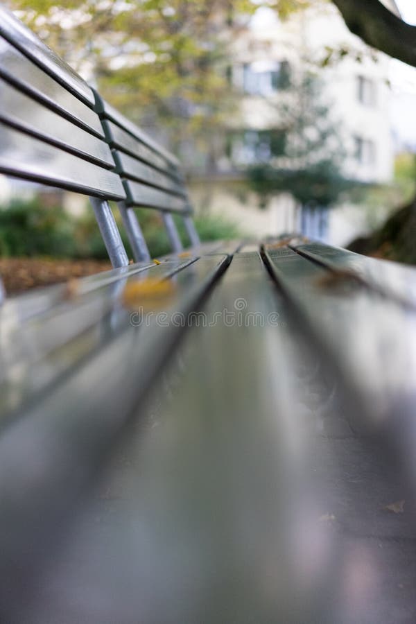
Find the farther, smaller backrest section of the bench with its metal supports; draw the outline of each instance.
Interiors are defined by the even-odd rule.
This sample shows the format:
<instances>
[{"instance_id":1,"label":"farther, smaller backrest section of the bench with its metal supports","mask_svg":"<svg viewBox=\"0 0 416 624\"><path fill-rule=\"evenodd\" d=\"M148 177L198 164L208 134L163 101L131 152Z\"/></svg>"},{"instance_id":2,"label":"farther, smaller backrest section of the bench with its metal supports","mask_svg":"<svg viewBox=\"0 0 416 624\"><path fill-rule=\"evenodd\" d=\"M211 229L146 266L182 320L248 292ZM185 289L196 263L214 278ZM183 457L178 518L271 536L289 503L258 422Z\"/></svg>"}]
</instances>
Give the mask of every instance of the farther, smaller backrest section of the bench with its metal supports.
<instances>
[{"instance_id":1,"label":"farther, smaller backrest section of the bench with its metal supports","mask_svg":"<svg viewBox=\"0 0 416 624\"><path fill-rule=\"evenodd\" d=\"M180 171L180 162L98 94L96 101L96 110L103 123L105 138L112 148L116 171L123 180L126 199L120 209L126 229L137 229L136 223L128 223L128 219L131 221L133 218L131 209L153 208L162 211L173 251L180 251L182 245L172 213L182 216L191 245L198 245L198 234L191 218L193 210ZM125 214L125 209L130 214ZM137 244L132 241L131 234L130 243L135 250ZM144 259L143 253L136 259Z\"/></svg>"}]
</instances>

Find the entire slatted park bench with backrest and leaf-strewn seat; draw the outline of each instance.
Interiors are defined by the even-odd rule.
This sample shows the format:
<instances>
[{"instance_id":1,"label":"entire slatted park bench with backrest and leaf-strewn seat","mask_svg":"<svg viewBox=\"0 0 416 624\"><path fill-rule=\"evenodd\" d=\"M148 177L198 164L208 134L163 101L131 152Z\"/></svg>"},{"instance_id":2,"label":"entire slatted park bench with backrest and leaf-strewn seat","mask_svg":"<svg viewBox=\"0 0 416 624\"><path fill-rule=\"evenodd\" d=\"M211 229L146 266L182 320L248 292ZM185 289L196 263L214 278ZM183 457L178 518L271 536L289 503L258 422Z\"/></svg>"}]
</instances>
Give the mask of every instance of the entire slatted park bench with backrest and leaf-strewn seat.
<instances>
[{"instance_id":1,"label":"entire slatted park bench with backrest and leaf-strewn seat","mask_svg":"<svg viewBox=\"0 0 416 624\"><path fill-rule=\"evenodd\" d=\"M0 621L414 621L415 270L201 245L175 157L0 18L0 172L89 197L114 266L1 306Z\"/></svg>"}]
</instances>

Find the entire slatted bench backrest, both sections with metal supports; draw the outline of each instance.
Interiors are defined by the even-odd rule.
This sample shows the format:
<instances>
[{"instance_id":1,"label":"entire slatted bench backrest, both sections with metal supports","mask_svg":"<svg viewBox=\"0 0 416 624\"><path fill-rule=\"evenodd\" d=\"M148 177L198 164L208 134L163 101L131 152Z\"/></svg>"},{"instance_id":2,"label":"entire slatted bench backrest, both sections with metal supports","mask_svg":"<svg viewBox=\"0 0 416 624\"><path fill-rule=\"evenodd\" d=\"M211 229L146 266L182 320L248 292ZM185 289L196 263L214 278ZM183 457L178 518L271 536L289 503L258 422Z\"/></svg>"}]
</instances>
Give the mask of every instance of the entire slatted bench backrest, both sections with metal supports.
<instances>
[{"instance_id":1,"label":"entire slatted bench backrest, both sections with metal supports","mask_svg":"<svg viewBox=\"0 0 416 624\"><path fill-rule=\"evenodd\" d=\"M0 6L0 173L89 196L113 266L128 257L108 200L119 202L137 261L150 258L133 207L172 212L199 243L179 162L96 94L29 28Z\"/></svg>"}]
</instances>

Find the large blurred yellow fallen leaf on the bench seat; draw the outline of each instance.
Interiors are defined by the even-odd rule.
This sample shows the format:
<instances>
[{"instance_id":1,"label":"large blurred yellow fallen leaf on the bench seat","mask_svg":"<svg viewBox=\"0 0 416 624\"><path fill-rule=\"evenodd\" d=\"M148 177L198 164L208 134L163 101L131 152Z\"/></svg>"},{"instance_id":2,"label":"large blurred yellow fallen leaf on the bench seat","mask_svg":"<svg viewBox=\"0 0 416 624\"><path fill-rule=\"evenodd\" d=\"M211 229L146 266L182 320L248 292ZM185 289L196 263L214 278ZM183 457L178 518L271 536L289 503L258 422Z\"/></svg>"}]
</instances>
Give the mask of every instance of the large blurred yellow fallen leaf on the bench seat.
<instances>
[{"instance_id":1,"label":"large blurred yellow fallen leaf on the bench seat","mask_svg":"<svg viewBox=\"0 0 416 624\"><path fill-rule=\"evenodd\" d=\"M175 290L173 281L148 277L129 281L125 285L122 301L129 310L155 308L165 304L175 294Z\"/></svg>"}]
</instances>

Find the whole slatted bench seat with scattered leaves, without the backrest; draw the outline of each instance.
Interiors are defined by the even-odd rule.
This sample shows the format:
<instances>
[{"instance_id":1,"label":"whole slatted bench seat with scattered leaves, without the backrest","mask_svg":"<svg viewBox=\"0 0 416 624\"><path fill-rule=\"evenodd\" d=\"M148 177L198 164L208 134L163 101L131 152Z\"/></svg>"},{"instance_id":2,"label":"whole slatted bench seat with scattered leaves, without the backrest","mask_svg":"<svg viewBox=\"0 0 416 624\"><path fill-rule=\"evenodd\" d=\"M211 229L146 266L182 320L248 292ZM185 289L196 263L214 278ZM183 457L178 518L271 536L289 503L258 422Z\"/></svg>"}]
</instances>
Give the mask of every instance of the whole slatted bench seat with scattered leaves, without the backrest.
<instances>
[{"instance_id":1,"label":"whole slatted bench seat with scattered leaves, without the backrest","mask_svg":"<svg viewBox=\"0 0 416 624\"><path fill-rule=\"evenodd\" d=\"M415 312L277 245L80 280L10 333L37 355L3 385L18 401L0 437L0 566L20 570L3 591L37 578L27 604L3 596L10 621L198 621L207 600L209 621L390 621L385 587L415 571ZM167 298L133 288L126 303L149 278ZM177 323L190 312L204 315ZM370 607L349 600L351 552L376 566Z\"/></svg>"}]
</instances>

